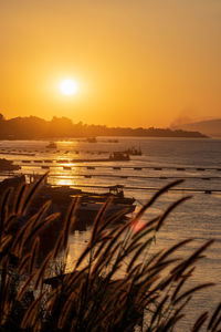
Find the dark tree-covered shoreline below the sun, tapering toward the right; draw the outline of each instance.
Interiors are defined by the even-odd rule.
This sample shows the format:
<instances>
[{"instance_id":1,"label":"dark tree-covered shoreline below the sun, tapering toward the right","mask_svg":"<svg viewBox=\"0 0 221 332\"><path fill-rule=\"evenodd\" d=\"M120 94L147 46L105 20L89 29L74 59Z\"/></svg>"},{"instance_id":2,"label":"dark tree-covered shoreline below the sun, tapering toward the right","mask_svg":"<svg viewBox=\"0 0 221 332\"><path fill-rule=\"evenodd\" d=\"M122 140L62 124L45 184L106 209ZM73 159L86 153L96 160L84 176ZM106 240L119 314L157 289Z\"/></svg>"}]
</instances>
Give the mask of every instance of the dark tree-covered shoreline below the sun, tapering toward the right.
<instances>
[{"instance_id":1,"label":"dark tree-covered shoreline below the sun, tapering toward the right","mask_svg":"<svg viewBox=\"0 0 221 332\"><path fill-rule=\"evenodd\" d=\"M0 139L44 139L93 136L137 136L137 137L207 137L199 132L169 128L130 128L73 124L67 117L54 116L45 121L36 116L6 120L0 114Z\"/></svg>"}]
</instances>

